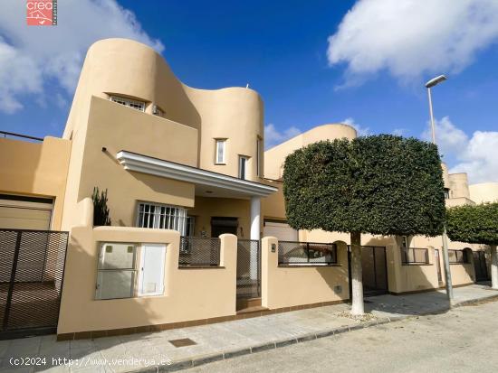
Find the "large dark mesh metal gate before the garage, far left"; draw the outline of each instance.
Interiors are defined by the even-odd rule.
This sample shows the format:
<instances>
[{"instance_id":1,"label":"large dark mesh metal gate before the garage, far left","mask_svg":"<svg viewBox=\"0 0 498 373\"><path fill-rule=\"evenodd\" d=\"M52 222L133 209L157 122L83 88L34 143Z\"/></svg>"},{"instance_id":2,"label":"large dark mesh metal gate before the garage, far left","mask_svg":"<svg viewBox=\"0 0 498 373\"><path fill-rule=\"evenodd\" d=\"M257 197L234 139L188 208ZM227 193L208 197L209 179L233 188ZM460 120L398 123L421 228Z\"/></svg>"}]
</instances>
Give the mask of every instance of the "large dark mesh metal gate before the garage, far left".
<instances>
[{"instance_id":1,"label":"large dark mesh metal gate before the garage, far left","mask_svg":"<svg viewBox=\"0 0 498 373\"><path fill-rule=\"evenodd\" d=\"M68 232L0 229L0 339L57 329Z\"/></svg>"}]
</instances>

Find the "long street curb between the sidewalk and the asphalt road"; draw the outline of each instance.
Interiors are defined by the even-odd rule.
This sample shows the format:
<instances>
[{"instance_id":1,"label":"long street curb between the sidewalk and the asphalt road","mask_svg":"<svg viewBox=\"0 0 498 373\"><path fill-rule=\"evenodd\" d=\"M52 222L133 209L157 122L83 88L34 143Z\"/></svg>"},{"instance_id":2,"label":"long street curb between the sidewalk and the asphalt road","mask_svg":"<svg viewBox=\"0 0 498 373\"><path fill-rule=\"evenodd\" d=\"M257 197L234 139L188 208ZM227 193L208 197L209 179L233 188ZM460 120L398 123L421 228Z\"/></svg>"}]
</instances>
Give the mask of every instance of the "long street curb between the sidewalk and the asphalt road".
<instances>
[{"instance_id":1,"label":"long street curb between the sidewalk and the asphalt road","mask_svg":"<svg viewBox=\"0 0 498 373\"><path fill-rule=\"evenodd\" d=\"M470 299L467 301L454 303L453 307L456 308L456 307L461 307L461 306L464 306L467 304L477 303L477 302L481 302L481 301L490 301L493 299L498 299L498 294L493 294L490 296L486 296L484 298ZM204 364L211 363L214 361L233 359L233 358L237 358L240 356L250 355L250 354L258 353L258 352L265 351L265 350L280 349L282 347L291 346L292 344L296 344L296 343L306 342L308 340L318 340L321 338L330 337L330 336L336 335L336 334L339 335L339 334L349 332L349 331L359 331L362 329L366 329L366 328L370 328L370 327L378 326L378 325L383 325L383 324L387 324L390 322L400 322L402 320L406 320L406 319L409 319L412 317L426 316L426 315L441 313L441 312L445 312L445 311L449 311L449 310L450 310L449 308L441 308L440 310L437 310L436 312L433 310L431 312L423 312L423 313L419 313L417 315L407 315L407 316L400 315L400 316L393 316L393 317L379 317L379 318L376 318L375 320L372 320L369 322L360 322L360 323L354 324L354 325L340 326L339 328L302 334L299 337L292 337L292 338L283 339L283 340L273 340L271 342L258 344L258 345L254 345L251 347L244 347L244 348L236 349L236 350L226 350L224 352L216 352L213 354L196 356L196 357L192 357L191 359L175 361L170 365L148 367L148 368L142 368L142 369L134 369L134 370L129 370L129 372L130 373L131 372L133 372L133 373L175 372L175 371L183 370L183 369L187 369L187 368L198 367L199 365L204 365Z\"/></svg>"}]
</instances>

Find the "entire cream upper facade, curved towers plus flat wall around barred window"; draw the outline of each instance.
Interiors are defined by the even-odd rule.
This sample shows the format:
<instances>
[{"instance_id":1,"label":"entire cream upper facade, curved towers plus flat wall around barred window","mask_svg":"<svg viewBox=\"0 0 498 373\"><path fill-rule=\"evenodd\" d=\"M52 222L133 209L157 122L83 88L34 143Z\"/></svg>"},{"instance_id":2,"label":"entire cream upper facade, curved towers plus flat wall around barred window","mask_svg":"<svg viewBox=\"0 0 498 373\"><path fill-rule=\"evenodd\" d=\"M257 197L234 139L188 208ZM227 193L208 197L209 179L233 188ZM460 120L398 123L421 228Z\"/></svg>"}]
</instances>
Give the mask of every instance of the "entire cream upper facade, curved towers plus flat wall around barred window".
<instances>
[{"instance_id":1,"label":"entire cream upper facade, curved towers plus flat wall around barred window","mask_svg":"<svg viewBox=\"0 0 498 373\"><path fill-rule=\"evenodd\" d=\"M145 112L112 102L110 95L143 101ZM154 106L164 115L153 115ZM63 137L72 140L72 149L62 228L78 224L78 202L94 186L109 189L112 224L134 226L138 200L193 208L195 185L129 173L116 161L120 150L235 177L244 155L246 179L258 182L263 102L252 89L187 87L147 45L107 39L87 53ZM215 138L226 139L225 164L215 164Z\"/></svg>"}]
</instances>

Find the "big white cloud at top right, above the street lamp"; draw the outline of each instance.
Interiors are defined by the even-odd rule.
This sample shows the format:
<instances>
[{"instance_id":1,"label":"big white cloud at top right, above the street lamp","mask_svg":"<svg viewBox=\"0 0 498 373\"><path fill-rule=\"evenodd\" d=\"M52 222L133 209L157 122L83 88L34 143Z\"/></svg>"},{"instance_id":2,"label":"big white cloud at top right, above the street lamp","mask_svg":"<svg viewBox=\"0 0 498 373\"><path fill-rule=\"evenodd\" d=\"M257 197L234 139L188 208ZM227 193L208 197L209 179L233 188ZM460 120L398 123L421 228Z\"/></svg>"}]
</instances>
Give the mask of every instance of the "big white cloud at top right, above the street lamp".
<instances>
[{"instance_id":1,"label":"big white cloud at top right, above the street lamp","mask_svg":"<svg viewBox=\"0 0 498 373\"><path fill-rule=\"evenodd\" d=\"M359 0L329 37L330 65L347 64L345 85L380 70L409 81L458 72L498 40L496 0Z\"/></svg>"}]
</instances>

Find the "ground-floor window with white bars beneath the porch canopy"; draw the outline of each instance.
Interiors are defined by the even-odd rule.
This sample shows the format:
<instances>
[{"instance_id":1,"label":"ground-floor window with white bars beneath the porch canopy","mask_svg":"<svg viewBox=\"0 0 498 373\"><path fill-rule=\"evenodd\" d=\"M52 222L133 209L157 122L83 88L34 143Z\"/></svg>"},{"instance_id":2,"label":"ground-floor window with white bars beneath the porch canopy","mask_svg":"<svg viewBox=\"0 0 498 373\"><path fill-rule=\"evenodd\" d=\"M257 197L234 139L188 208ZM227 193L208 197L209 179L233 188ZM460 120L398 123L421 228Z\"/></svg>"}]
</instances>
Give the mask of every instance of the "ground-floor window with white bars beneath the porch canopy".
<instances>
[{"instance_id":1,"label":"ground-floor window with white bars beneath the porch canopy","mask_svg":"<svg viewBox=\"0 0 498 373\"><path fill-rule=\"evenodd\" d=\"M139 201L136 226L139 228L174 229L180 232L180 235L185 236L187 209Z\"/></svg>"}]
</instances>

